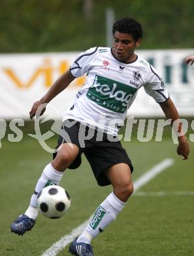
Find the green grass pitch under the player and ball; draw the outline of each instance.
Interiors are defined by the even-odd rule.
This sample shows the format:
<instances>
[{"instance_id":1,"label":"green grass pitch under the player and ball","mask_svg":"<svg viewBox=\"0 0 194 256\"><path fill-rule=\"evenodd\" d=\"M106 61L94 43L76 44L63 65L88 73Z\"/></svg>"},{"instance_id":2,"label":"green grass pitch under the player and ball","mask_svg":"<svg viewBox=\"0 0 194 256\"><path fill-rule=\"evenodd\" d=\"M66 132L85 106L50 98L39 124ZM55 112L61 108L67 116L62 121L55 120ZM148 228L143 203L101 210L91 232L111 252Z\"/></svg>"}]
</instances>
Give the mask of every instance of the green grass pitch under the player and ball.
<instances>
[{"instance_id":1,"label":"green grass pitch under the player and ball","mask_svg":"<svg viewBox=\"0 0 194 256\"><path fill-rule=\"evenodd\" d=\"M56 140L50 144L55 146ZM133 181L159 161L173 158L174 165L157 175L133 196L117 220L93 240L95 256L193 256L194 196L176 192L194 190L193 144L188 161L176 155L172 140L123 142L135 166ZM39 215L35 227L24 236L10 232L10 223L24 213L42 168L52 156L35 139L2 141L0 148L0 255L40 256L73 228L82 224L110 193L95 182L86 159L76 171L67 170L61 186L71 195L71 208L61 219ZM159 196L157 192L165 194ZM150 193L152 192L152 193ZM173 193L174 194L173 194ZM68 247L58 256L69 255Z\"/></svg>"}]
</instances>

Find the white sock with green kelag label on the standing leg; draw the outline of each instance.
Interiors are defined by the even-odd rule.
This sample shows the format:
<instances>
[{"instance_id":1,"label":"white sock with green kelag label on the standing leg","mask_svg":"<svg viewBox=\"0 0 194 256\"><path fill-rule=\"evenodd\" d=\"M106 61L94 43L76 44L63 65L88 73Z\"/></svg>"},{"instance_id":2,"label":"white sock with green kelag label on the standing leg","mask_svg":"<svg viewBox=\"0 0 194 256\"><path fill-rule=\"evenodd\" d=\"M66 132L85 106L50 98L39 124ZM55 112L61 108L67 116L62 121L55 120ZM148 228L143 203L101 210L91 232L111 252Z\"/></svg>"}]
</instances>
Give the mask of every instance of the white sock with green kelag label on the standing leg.
<instances>
[{"instance_id":1,"label":"white sock with green kelag label on the standing leg","mask_svg":"<svg viewBox=\"0 0 194 256\"><path fill-rule=\"evenodd\" d=\"M95 211L88 226L80 234L77 242L90 244L100 232L105 230L106 226L116 219L116 216L125 207L125 203L119 200L112 192Z\"/></svg>"}]
</instances>

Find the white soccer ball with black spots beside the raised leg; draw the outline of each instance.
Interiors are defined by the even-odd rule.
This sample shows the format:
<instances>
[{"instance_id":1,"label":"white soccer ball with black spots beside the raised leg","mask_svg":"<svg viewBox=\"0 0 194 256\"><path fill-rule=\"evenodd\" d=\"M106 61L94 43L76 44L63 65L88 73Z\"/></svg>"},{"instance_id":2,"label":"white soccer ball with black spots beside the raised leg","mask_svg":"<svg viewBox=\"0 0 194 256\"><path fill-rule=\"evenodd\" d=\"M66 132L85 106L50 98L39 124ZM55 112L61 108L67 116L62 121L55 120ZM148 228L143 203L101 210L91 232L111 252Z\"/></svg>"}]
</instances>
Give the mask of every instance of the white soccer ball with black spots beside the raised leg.
<instances>
[{"instance_id":1,"label":"white soccer ball with black spots beside the raised leg","mask_svg":"<svg viewBox=\"0 0 194 256\"><path fill-rule=\"evenodd\" d=\"M62 217L67 213L70 205L70 196L61 186L46 186L38 196L38 209L40 213L50 219Z\"/></svg>"}]
</instances>

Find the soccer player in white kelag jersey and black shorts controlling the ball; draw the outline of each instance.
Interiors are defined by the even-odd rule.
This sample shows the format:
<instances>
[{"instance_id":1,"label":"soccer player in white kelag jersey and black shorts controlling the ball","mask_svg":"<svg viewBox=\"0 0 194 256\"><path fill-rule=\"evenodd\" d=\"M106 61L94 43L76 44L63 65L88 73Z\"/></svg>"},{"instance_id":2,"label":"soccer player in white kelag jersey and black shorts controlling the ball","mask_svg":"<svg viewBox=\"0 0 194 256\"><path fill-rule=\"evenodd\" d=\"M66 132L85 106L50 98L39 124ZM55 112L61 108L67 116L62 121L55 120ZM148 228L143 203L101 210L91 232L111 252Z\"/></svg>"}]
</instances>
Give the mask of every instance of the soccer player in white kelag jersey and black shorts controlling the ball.
<instances>
[{"instance_id":1,"label":"soccer player in white kelag jersey and black shorts controlling the ball","mask_svg":"<svg viewBox=\"0 0 194 256\"><path fill-rule=\"evenodd\" d=\"M19 235L31 230L37 219L37 196L42 188L48 184L59 184L65 169L76 169L84 153L98 184L112 184L113 191L97 207L88 226L71 244L69 252L73 255L93 255L91 241L116 219L133 193L133 165L118 140L118 130L138 89L144 87L172 123L179 119L157 70L135 53L142 39L139 22L133 18L121 18L114 23L112 32L112 48L94 47L79 54L70 69L33 104L29 112L33 118L41 104L50 102L76 77L87 74L86 84L63 116L57 145L59 150L54 154L54 160L44 168L25 214L11 224L12 232ZM178 131L181 130L180 123ZM87 139L83 141L83 138ZM178 154L187 159L189 144L183 133L178 142Z\"/></svg>"}]
</instances>

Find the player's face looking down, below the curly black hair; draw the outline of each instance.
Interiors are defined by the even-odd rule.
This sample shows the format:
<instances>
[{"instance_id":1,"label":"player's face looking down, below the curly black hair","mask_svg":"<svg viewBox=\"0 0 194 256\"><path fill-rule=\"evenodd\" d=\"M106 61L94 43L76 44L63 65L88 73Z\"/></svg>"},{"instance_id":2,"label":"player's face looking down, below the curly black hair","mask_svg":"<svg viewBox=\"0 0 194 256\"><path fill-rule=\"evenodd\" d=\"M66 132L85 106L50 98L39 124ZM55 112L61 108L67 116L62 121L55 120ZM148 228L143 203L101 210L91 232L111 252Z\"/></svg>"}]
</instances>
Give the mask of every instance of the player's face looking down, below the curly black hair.
<instances>
[{"instance_id":1,"label":"player's face looking down, below the curly black hair","mask_svg":"<svg viewBox=\"0 0 194 256\"><path fill-rule=\"evenodd\" d=\"M121 62L129 63L136 59L134 53L135 48L140 44L141 39L137 41L133 39L133 35L129 33L114 33L114 43L112 52L114 56Z\"/></svg>"}]
</instances>

